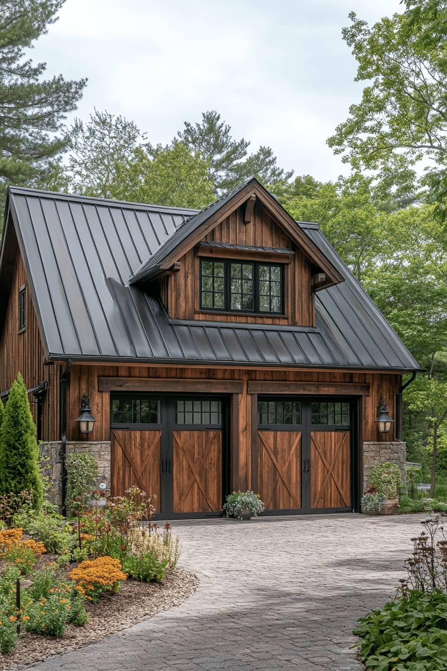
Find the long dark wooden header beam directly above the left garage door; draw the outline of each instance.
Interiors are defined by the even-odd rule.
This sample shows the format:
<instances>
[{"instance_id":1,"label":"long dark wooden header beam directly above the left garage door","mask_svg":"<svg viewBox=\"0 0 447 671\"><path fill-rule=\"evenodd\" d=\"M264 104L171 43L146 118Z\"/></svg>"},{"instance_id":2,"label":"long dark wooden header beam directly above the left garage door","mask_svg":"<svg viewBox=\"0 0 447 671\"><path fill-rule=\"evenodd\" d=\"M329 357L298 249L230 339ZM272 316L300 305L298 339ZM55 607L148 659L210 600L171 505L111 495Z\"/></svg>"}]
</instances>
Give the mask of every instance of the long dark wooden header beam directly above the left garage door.
<instances>
[{"instance_id":1,"label":"long dark wooden header beam directly above the left garage door","mask_svg":"<svg viewBox=\"0 0 447 671\"><path fill-rule=\"evenodd\" d=\"M98 391L153 391L197 394L242 394L243 382L233 380L182 380L179 378L99 377Z\"/></svg>"}]
</instances>

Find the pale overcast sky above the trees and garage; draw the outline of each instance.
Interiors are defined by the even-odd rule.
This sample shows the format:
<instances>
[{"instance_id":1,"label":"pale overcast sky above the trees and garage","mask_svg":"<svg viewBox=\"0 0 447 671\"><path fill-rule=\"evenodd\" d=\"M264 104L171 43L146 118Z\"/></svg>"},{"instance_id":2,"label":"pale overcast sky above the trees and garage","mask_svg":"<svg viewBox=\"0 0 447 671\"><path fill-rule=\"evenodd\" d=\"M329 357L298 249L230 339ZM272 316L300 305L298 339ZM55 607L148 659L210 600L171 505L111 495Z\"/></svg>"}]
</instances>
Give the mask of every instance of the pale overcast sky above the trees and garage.
<instances>
[{"instance_id":1,"label":"pale overcast sky above the trees and garage","mask_svg":"<svg viewBox=\"0 0 447 671\"><path fill-rule=\"evenodd\" d=\"M334 180L348 174L326 146L361 99L343 42L348 13L373 23L399 0L66 0L31 57L47 75L88 77L76 116L107 109L167 144L184 121L216 109L250 150Z\"/></svg>"}]
</instances>

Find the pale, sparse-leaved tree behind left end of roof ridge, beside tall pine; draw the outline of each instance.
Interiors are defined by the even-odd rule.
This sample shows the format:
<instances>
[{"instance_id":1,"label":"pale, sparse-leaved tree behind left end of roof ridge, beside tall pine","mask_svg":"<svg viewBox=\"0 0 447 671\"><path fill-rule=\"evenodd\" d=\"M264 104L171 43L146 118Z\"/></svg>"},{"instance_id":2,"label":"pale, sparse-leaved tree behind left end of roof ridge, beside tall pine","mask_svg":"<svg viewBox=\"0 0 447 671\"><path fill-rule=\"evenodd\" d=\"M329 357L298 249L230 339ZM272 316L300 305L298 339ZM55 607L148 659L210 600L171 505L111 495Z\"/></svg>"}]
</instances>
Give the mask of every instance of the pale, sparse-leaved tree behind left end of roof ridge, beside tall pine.
<instances>
[{"instance_id":1,"label":"pale, sparse-leaved tree behind left end of roof ridge, beside tall pine","mask_svg":"<svg viewBox=\"0 0 447 671\"><path fill-rule=\"evenodd\" d=\"M114 198L117 166L127 164L143 140L145 134L135 123L120 115L95 109L88 123L75 119L70 130L70 187L82 195Z\"/></svg>"}]
</instances>

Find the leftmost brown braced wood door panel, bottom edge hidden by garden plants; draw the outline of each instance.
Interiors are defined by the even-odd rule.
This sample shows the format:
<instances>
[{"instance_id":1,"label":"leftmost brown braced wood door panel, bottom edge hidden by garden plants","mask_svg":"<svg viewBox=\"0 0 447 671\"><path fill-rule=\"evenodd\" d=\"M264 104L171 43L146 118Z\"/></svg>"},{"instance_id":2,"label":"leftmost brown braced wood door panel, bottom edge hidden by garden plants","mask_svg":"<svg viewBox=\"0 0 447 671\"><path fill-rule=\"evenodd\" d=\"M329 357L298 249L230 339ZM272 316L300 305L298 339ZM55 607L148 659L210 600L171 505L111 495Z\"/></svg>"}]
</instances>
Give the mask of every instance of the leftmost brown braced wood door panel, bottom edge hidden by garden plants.
<instances>
[{"instance_id":1,"label":"leftmost brown braced wood door panel, bottom edge hidden by garden plants","mask_svg":"<svg viewBox=\"0 0 447 671\"><path fill-rule=\"evenodd\" d=\"M137 486L148 496L160 497L162 431L113 429L111 444L113 497Z\"/></svg>"}]
</instances>

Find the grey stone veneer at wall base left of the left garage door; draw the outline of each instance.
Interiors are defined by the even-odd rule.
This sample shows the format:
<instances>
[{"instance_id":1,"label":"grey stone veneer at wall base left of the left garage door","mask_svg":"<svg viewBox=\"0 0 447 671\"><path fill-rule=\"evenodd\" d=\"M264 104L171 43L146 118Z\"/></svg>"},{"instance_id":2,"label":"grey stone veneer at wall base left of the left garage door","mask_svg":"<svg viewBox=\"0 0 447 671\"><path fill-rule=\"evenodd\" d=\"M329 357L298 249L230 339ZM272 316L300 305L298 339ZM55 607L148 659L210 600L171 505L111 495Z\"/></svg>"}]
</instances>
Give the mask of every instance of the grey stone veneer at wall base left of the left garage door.
<instances>
[{"instance_id":1,"label":"grey stone veneer at wall base left of the left garage door","mask_svg":"<svg viewBox=\"0 0 447 671\"><path fill-rule=\"evenodd\" d=\"M48 458L48 468L44 470L44 475L50 476L53 481L54 493L50 495L52 503L59 507L62 505L62 455L60 450L62 443L60 441L53 443L41 443L39 446L40 455ZM80 454L88 452L98 462L98 480L97 487L101 482L105 482L107 488L103 490L106 496L110 495L111 484L111 464L110 464L110 441L108 442L72 442L67 441L67 455Z\"/></svg>"}]
</instances>

